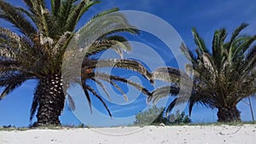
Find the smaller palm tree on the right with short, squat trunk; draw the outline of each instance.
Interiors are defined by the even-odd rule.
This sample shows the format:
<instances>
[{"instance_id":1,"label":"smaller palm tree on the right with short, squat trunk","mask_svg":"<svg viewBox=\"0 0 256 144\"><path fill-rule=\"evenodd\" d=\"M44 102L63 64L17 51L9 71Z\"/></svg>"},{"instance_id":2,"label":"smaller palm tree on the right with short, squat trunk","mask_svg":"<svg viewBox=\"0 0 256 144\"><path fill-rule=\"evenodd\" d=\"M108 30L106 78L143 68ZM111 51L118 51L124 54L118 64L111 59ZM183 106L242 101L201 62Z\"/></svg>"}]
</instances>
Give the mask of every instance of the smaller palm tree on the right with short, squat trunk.
<instances>
[{"instance_id":1,"label":"smaller palm tree on the right with short, squat trunk","mask_svg":"<svg viewBox=\"0 0 256 144\"><path fill-rule=\"evenodd\" d=\"M192 66L186 66L186 72L193 78L193 88L189 98L180 95L166 108L166 114L175 104L189 101L189 114L195 104L218 109L219 122L241 121L240 111L236 105L256 92L256 36L241 35L241 31L248 25L243 23L226 40L227 32L220 29L214 32L212 49L192 29L196 53L181 45L183 54L191 61ZM179 77L185 75L175 68L167 67L168 72L161 73L163 67L154 72L154 78L171 83L155 89L149 101L158 101L166 94L178 95ZM189 76L186 75L186 76ZM166 78L165 78L166 77ZM167 78L169 77L169 78ZM169 90L166 92L166 90Z\"/></svg>"}]
</instances>

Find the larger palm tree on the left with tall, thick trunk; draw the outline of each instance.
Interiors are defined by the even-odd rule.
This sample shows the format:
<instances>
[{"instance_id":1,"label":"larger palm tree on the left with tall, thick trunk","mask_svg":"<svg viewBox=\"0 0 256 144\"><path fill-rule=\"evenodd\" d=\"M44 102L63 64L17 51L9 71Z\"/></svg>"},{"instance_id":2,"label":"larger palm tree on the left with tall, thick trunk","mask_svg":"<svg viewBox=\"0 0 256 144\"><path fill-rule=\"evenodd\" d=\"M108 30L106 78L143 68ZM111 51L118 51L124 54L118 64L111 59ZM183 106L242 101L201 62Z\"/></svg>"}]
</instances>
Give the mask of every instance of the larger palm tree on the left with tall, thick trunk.
<instances>
[{"instance_id":1,"label":"larger palm tree on the left with tall, thick trunk","mask_svg":"<svg viewBox=\"0 0 256 144\"><path fill-rule=\"evenodd\" d=\"M24 0L23 2L26 4L26 8L15 7L0 0L0 18L7 20L15 27L15 30L18 30L18 32L12 32L0 27L0 87L4 88L0 100L27 80L38 80L33 96L30 119L32 120L38 110L39 125L60 124L59 116L64 108L67 94L66 91L63 91L62 86L68 86L68 84L63 84L61 77L63 60L70 56L66 50L75 36L76 26L82 15L91 6L99 2L91 0L51 0L49 5L43 0ZM110 9L96 14L92 20L118 10ZM124 15L115 14L115 18L118 20L107 20L102 24L108 28L120 26L122 29L105 33L87 45L87 53L83 57L84 62L80 76L89 103L90 95L95 95L97 99L102 101L107 110L108 106L101 95L98 95L95 89L86 84L86 80L95 81L107 95L108 91L101 80L112 84L119 91L122 91L122 89L119 88L118 84L115 84L116 81L131 84L143 90L145 94L150 95L148 90L139 84L119 76L99 72L97 73L99 77L94 77L96 67L114 66L140 72L146 78L150 78L149 72L136 60L102 60L101 65L96 66L97 60L92 59L92 55L107 49L114 49L119 53L122 49L131 49L129 43L122 44L127 40L125 37L117 35L118 32L138 33L134 27L132 28L128 24ZM101 25L99 23L92 24L92 20L88 22L91 26ZM85 49L85 47L82 49ZM73 59L72 56L71 59ZM68 83L72 82L76 82L76 78L70 78ZM70 95L67 97L70 98ZM72 99L69 100L73 103ZM108 113L111 116L109 110Z\"/></svg>"}]
</instances>

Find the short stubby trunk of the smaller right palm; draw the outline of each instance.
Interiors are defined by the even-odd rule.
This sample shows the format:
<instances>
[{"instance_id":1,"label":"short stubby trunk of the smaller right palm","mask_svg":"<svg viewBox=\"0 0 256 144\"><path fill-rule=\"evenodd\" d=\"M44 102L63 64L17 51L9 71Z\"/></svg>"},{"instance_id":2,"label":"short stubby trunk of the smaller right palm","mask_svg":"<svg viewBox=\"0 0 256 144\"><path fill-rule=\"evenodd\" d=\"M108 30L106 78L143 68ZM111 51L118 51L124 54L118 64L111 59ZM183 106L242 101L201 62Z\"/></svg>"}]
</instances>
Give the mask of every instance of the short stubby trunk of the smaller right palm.
<instances>
[{"instance_id":1,"label":"short stubby trunk of the smaller right palm","mask_svg":"<svg viewBox=\"0 0 256 144\"><path fill-rule=\"evenodd\" d=\"M240 122L240 111L236 107L220 107L218 108L218 122L231 123Z\"/></svg>"}]
</instances>

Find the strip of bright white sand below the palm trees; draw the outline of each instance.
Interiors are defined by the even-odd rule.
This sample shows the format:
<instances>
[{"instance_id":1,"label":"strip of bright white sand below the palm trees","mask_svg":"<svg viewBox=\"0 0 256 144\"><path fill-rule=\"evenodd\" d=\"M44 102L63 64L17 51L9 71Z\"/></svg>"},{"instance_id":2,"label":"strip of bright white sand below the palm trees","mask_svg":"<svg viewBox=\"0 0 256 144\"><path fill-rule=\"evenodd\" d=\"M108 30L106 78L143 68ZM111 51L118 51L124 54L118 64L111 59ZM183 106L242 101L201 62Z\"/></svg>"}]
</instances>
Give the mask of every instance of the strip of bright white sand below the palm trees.
<instances>
[{"instance_id":1,"label":"strip of bright white sand below the palm trees","mask_svg":"<svg viewBox=\"0 0 256 144\"><path fill-rule=\"evenodd\" d=\"M255 144L256 124L0 131L0 144Z\"/></svg>"}]
</instances>

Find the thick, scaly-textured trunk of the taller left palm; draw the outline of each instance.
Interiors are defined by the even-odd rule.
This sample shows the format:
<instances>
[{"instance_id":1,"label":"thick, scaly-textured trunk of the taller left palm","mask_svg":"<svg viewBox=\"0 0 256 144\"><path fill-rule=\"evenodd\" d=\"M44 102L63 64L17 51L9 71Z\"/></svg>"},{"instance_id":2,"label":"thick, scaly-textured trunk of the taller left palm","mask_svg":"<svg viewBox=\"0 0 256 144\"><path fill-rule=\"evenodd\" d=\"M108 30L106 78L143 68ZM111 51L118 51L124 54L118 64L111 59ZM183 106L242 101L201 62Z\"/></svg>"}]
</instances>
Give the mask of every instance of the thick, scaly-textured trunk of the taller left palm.
<instances>
[{"instance_id":1,"label":"thick, scaly-textured trunk of the taller left palm","mask_svg":"<svg viewBox=\"0 0 256 144\"><path fill-rule=\"evenodd\" d=\"M60 75L49 75L40 80L38 89L38 125L59 125L64 108L65 95Z\"/></svg>"}]
</instances>

